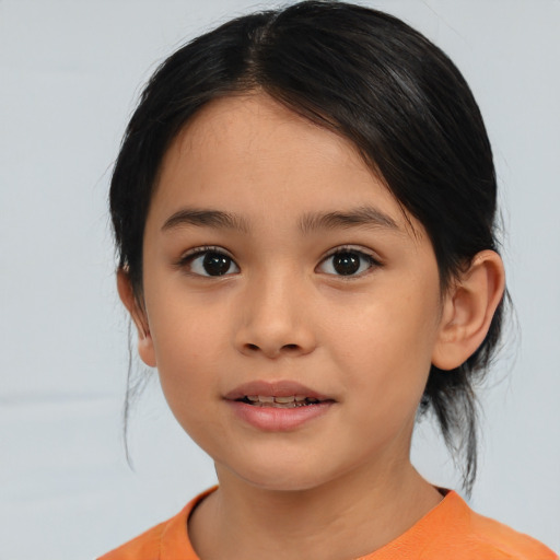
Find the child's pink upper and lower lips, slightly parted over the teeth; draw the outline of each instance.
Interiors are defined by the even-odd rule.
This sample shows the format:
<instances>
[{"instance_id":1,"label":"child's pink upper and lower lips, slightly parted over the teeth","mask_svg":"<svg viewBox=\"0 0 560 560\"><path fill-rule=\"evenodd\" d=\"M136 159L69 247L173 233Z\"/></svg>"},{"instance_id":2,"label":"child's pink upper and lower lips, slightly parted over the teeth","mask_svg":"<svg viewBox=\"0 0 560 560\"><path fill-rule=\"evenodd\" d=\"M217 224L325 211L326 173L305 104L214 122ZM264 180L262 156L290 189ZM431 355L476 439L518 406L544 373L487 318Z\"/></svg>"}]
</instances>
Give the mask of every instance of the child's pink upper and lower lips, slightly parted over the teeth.
<instances>
[{"instance_id":1,"label":"child's pink upper and lower lips, slightly parted over the teeth","mask_svg":"<svg viewBox=\"0 0 560 560\"><path fill-rule=\"evenodd\" d=\"M301 395L322 402L294 408L256 407L240 400L248 395L267 397ZM264 432L291 432L303 428L312 420L327 413L336 402L326 395L291 381L244 383L228 393L224 399L238 419Z\"/></svg>"}]
</instances>

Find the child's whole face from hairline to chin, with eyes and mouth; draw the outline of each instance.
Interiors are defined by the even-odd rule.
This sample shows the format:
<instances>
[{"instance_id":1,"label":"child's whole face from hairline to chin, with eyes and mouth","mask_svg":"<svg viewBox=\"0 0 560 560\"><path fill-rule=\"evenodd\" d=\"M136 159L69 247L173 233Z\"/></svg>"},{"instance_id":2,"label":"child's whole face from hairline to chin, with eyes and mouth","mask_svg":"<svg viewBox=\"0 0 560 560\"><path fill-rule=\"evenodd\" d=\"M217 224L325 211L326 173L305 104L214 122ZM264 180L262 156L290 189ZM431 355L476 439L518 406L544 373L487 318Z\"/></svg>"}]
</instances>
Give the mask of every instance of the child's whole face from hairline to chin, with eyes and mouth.
<instances>
[{"instance_id":1,"label":"child's whole face from hairline to chin, with eyes and mouth","mask_svg":"<svg viewBox=\"0 0 560 560\"><path fill-rule=\"evenodd\" d=\"M310 489L407 463L435 257L352 144L265 95L173 142L143 247L142 359L220 476Z\"/></svg>"}]
</instances>

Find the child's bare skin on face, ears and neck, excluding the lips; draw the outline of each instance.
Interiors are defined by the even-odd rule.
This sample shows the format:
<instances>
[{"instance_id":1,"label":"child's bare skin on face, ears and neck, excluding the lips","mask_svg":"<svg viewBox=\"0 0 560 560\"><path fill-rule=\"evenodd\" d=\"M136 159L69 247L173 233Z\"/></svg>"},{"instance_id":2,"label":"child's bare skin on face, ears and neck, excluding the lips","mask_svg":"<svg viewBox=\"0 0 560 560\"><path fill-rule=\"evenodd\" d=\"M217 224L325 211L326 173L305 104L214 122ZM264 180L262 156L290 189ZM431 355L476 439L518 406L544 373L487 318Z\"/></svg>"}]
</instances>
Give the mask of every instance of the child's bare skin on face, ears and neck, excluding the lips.
<instances>
[{"instance_id":1,"label":"child's bare skin on face, ears and neck, excluding the lips","mask_svg":"<svg viewBox=\"0 0 560 560\"><path fill-rule=\"evenodd\" d=\"M363 208L376 220L308 219ZM235 220L170 221L186 209ZM228 273L205 276L191 253L208 246L231 258ZM337 249L353 252L357 273L337 273ZM170 147L143 258L141 298L119 275L140 355L220 481L189 521L202 560L355 558L439 503L410 464L415 416L431 363L455 368L483 339L503 291L498 255L442 294L423 226L353 145L250 94L207 105ZM296 429L260 430L224 399L256 380L332 404Z\"/></svg>"}]
</instances>

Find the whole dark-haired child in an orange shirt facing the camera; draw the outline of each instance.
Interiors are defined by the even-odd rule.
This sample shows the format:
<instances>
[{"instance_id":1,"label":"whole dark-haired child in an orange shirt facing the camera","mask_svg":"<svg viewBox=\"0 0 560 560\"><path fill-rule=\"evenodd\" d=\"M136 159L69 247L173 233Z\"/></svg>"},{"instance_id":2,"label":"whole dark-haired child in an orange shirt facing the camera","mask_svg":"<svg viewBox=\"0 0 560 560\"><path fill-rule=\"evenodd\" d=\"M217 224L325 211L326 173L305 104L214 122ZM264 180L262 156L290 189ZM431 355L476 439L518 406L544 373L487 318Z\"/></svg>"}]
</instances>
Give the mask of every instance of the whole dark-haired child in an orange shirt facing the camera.
<instances>
[{"instance_id":1,"label":"whole dark-haired child in an orange shirt facing the camera","mask_svg":"<svg viewBox=\"0 0 560 560\"><path fill-rule=\"evenodd\" d=\"M557 558L410 463L431 409L472 485L504 301L490 144L424 37L316 1L199 37L110 208L140 357L219 487L105 560Z\"/></svg>"}]
</instances>

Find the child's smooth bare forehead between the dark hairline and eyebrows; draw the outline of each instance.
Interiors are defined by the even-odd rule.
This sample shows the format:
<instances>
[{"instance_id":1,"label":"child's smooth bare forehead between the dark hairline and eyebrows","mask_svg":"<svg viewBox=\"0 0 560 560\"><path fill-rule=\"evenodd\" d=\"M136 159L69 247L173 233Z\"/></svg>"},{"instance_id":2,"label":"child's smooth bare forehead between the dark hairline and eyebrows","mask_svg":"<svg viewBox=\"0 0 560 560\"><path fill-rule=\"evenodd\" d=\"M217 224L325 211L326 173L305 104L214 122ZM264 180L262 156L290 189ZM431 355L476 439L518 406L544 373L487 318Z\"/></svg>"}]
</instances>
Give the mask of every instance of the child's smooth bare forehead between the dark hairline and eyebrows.
<instances>
[{"instance_id":1,"label":"child's smooth bare forehead between the dark hairline and eyebrows","mask_svg":"<svg viewBox=\"0 0 560 560\"><path fill-rule=\"evenodd\" d=\"M348 139L266 94L215 100L177 135L152 206L170 213L182 205L255 221L375 206L402 231L422 230Z\"/></svg>"}]
</instances>

